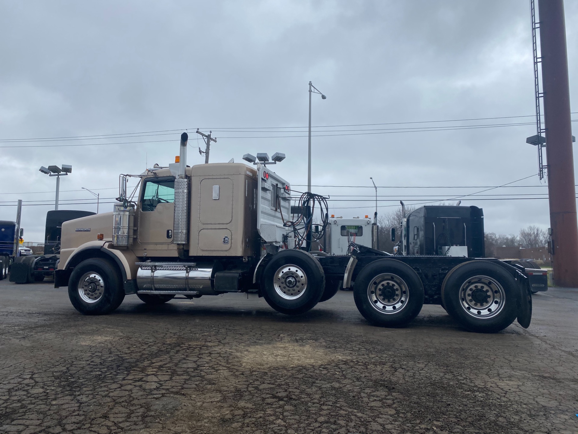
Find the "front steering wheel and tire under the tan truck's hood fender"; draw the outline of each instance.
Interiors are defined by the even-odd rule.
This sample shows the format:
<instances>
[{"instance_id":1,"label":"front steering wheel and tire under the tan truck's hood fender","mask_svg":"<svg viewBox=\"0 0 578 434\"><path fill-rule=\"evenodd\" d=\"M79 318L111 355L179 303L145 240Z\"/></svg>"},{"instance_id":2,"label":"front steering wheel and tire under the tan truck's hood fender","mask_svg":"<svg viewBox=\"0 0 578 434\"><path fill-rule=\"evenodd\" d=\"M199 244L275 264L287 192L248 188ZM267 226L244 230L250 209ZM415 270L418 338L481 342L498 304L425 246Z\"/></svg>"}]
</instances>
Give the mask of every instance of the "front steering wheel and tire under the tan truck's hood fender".
<instances>
[{"instance_id":1,"label":"front steering wheel and tire under the tan truck's hood fender","mask_svg":"<svg viewBox=\"0 0 578 434\"><path fill-rule=\"evenodd\" d=\"M81 279L84 282L82 286ZM83 260L72 271L68 281L68 297L72 306L83 315L112 312L124 300L120 270L106 259Z\"/></svg>"}]
</instances>

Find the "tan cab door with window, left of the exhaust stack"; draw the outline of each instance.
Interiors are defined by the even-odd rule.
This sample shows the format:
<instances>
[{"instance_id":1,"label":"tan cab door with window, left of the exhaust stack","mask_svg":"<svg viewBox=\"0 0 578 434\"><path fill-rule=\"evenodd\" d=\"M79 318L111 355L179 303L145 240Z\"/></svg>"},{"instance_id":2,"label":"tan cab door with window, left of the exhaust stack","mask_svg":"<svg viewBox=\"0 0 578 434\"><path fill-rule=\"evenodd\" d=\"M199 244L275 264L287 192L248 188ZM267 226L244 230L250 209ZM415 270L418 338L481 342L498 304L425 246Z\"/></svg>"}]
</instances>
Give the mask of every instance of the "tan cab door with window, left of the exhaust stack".
<instances>
[{"instance_id":1,"label":"tan cab door with window, left of the exhaust stack","mask_svg":"<svg viewBox=\"0 0 578 434\"><path fill-rule=\"evenodd\" d=\"M138 229L140 244L172 243L175 218L174 176L145 179L141 194Z\"/></svg>"}]
</instances>

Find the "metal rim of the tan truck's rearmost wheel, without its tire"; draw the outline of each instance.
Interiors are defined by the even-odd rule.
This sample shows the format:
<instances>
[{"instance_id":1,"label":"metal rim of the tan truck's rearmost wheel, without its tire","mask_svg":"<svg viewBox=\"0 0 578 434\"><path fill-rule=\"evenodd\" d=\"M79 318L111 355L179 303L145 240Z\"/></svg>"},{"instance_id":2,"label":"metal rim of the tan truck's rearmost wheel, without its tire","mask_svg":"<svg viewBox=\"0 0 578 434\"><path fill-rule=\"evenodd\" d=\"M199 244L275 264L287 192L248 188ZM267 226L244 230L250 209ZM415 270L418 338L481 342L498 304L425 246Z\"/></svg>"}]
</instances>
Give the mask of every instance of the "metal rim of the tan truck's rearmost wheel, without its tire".
<instances>
[{"instance_id":1,"label":"metal rim of the tan truck's rearmost wheel, without its tire","mask_svg":"<svg viewBox=\"0 0 578 434\"><path fill-rule=\"evenodd\" d=\"M474 276L460 288L460 306L471 317L493 318L506 306L506 293L495 279Z\"/></svg>"}]
</instances>

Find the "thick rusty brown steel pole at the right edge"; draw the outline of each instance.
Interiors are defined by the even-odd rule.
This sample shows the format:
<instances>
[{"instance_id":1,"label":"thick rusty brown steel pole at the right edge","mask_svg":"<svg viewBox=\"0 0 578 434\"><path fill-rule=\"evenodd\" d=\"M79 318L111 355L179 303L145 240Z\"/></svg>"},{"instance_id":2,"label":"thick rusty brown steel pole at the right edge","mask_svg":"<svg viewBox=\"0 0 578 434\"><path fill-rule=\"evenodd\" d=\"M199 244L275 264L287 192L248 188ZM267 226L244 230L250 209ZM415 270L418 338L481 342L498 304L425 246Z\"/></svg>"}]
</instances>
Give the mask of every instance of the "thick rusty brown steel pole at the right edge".
<instances>
[{"instance_id":1,"label":"thick rusty brown steel pole at the right edge","mask_svg":"<svg viewBox=\"0 0 578 434\"><path fill-rule=\"evenodd\" d=\"M539 0L551 253L557 286L578 288L578 222L563 0Z\"/></svg>"}]
</instances>

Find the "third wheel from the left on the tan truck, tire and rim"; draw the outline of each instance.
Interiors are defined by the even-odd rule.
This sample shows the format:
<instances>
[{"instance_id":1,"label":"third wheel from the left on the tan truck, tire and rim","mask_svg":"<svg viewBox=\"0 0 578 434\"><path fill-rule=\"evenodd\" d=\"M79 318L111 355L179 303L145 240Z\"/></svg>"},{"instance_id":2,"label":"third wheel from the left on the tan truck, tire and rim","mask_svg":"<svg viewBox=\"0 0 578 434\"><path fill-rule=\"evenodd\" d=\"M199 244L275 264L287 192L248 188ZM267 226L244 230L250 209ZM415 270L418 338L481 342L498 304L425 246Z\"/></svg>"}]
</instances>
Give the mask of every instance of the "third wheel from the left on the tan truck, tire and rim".
<instances>
[{"instance_id":1,"label":"third wheel from the left on the tan truck, tire and rim","mask_svg":"<svg viewBox=\"0 0 578 434\"><path fill-rule=\"evenodd\" d=\"M397 259L380 259L357 275L353 297L355 306L373 325L401 327L420 313L424 286L412 267Z\"/></svg>"}]
</instances>

